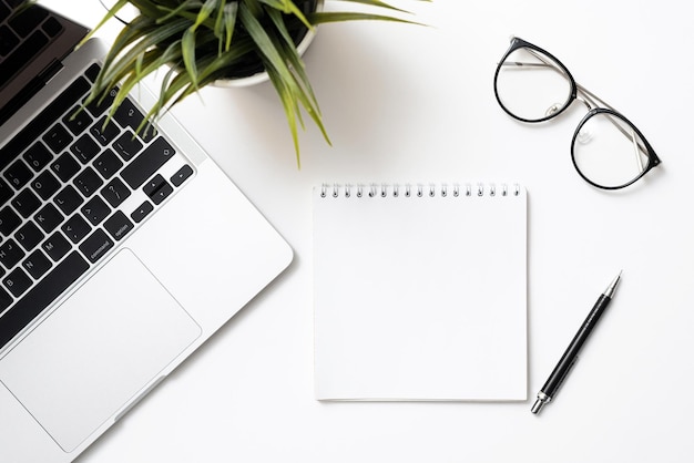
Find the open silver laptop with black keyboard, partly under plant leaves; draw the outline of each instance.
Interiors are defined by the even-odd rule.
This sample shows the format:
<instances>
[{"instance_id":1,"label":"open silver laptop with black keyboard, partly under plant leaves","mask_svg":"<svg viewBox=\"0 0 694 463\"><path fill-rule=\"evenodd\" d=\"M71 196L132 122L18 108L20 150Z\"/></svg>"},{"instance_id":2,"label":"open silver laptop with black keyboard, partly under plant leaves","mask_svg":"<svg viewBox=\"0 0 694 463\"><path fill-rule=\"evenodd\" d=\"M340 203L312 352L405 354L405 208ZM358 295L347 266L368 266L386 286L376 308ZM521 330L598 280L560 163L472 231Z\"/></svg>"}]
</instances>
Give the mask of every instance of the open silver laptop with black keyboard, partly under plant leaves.
<instances>
[{"instance_id":1,"label":"open silver laptop with black keyboard, partly under plant leaves","mask_svg":"<svg viewBox=\"0 0 694 463\"><path fill-rule=\"evenodd\" d=\"M292 261L140 89L82 105L106 48L0 0L0 461L70 462ZM136 97L135 97L136 96ZM106 99L108 100L108 99Z\"/></svg>"}]
</instances>

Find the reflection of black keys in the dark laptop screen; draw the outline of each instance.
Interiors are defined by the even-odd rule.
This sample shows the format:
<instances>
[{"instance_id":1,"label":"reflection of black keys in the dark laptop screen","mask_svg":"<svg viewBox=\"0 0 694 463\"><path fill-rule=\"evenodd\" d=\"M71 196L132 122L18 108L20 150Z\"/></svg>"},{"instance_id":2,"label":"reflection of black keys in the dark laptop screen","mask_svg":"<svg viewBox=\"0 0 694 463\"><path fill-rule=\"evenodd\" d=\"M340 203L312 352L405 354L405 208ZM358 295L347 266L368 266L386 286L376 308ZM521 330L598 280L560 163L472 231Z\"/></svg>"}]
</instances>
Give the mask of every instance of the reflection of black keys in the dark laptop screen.
<instances>
[{"instance_id":1,"label":"reflection of black keys in the dark laptop screen","mask_svg":"<svg viewBox=\"0 0 694 463\"><path fill-rule=\"evenodd\" d=\"M0 0L0 88L63 31L42 8L13 14L20 4L21 0Z\"/></svg>"}]
</instances>

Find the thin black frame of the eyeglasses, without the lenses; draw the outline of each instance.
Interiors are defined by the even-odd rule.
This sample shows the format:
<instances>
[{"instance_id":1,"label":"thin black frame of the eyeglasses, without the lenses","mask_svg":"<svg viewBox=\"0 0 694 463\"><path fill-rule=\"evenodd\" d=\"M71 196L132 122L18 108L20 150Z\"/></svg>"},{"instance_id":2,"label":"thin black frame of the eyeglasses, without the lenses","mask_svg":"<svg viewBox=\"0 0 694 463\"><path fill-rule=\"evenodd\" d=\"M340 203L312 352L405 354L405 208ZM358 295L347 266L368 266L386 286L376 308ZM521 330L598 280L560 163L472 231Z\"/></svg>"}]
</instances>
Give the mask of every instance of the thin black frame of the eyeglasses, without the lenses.
<instances>
[{"instance_id":1,"label":"thin black frame of the eyeglasses, without the lenses","mask_svg":"<svg viewBox=\"0 0 694 463\"><path fill-rule=\"evenodd\" d=\"M559 107L554 112L549 113L547 116L544 116L542 119L528 120L528 119L523 119L523 117L518 116L517 114L512 113L509 109L507 109L503 105L503 102L501 101L501 97L499 96L499 90L497 88L497 81L499 79L499 73L501 72L501 66L503 65L506 60L509 58L509 55L511 53L513 53L514 51L519 50L519 49L532 50L532 51L541 53L544 56L551 59L553 61L552 64L555 64L557 66L559 66L559 70L561 70L561 72L563 72L565 74L567 79L569 80L569 84L570 84L571 89L570 89L570 92L569 92L569 97L564 102L563 106ZM610 107L610 105L606 104L604 101L602 101L600 97L598 97L596 95L594 95L593 93L591 93L586 89L580 86L576 83L576 81L573 79L573 75L571 75L571 72L569 71L569 69L561 61L559 61L552 53L550 53L547 50L543 50L540 47L537 47L537 45L534 45L534 44L532 44L530 42L527 42L523 39L519 39L518 37L511 38L511 45L509 47L507 52L503 54L503 56L499 61L499 64L497 65L497 71L494 72L494 96L497 97L497 102L499 103L499 106L501 106L501 109L508 115L510 115L511 117L513 117L513 119L516 119L518 121L524 122L524 123L533 124L533 123L545 122L545 121L549 121L549 120L551 120L553 117L557 117L558 115L560 115L561 113L567 111L567 109L569 109L569 106L571 106L571 104L573 104L574 101L579 100L579 92L581 92L582 95L583 95L583 99L580 100L580 101L583 102L589 107L588 114L585 114L583 116L583 119L581 120L581 122L579 123L576 130L573 133L573 137L571 138L571 162L573 163L573 166L576 169L576 172L579 173L579 175L581 176L581 178L583 178L590 185L592 185L594 187L598 187L598 188L602 188L602 189L621 189L621 188L624 188L624 187L626 187L629 185L634 184L635 182L641 179L641 177L643 177L649 171L651 171L653 167L655 167L659 164L661 164L661 160L657 157L657 155L655 154L655 151L653 150L653 147L651 146L649 141L645 138L645 136L643 136L643 133L641 133L641 131L629 119L626 119L622 113L620 113L619 111ZM593 107L591 107L591 106L593 106ZM596 184L595 182L593 182L590 178L588 178L583 174L583 172L581 172L581 169L579 168L579 165L576 163L574 146L575 146L575 141L576 141L576 138L579 136L579 133L581 132L581 128L583 128L583 125L585 125L585 123L591 117L593 117L593 116L595 116L598 114L606 114L606 115L610 115L612 117L616 117L616 119L621 120L623 123L629 125L634 131L634 133L639 136L639 138L643 142L643 146L639 146L639 148L643 150L643 152L645 153L645 155L647 157L647 164L646 164L645 168L643 169L643 172L641 172L636 177L632 178L631 181L629 181L629 182L626 182L626 183L624 183L622 185L606 186L606 185ZM624 134L624 135L629 136L627 134Z\"/></svg>"}]
</instances>

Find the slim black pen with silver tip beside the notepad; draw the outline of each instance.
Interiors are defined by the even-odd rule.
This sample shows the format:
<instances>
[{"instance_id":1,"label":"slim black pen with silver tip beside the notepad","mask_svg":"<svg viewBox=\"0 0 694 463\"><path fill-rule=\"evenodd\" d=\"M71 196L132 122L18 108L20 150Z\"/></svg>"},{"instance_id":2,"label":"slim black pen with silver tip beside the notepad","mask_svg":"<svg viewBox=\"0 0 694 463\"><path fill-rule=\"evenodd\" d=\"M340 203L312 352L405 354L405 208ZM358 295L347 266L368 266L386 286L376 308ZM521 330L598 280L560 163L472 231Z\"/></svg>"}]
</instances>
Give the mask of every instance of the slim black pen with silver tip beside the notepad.
<instances>
[{"instance_id":1,"label":"slim black pen with silver tip beside the notepad","mask_svg":"<svg viewBox=\"0 0 694 463\"><path fill-rule=\"evenodd\" d=\"M595 325L598 325L600 316L602 316L602 312L612 300L621 276L622 272L620 271L620 275L612 280L608 289L605 289L604 292L598 298L595 306L593 306L593 309L588 315L588 318L583 325L581 325L581 328L579 328L579 332L575 333L573 340L564 351L564 354L561 356L559 363L557 363L557 367L552 370L552 374L550 374L550 378L547 380L540 392L538 392L538 400L535 400L535 403L532 405L532 409L530 410L531 412L535 414L539 413L540 410L542 410L542 407L554 398L557 390L567 378L567 374L569 374L569 370L571 370L571 367L573 367L575 361L579 360L579 351L581 350L581 347L583 347L583 343L591 335L591 331L595 328Z\"/></svg>"}]
</instances>

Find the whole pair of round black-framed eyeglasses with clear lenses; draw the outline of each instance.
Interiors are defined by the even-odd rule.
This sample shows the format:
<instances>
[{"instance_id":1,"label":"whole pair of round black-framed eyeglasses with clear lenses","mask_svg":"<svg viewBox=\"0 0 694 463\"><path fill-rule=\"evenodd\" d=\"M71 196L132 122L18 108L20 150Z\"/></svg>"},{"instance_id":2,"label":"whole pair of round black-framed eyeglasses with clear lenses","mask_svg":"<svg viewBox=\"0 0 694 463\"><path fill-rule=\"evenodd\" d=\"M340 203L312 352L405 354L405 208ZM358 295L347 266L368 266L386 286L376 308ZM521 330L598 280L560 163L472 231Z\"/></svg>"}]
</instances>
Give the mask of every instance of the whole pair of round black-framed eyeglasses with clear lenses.
<instances>
[{"instance_id":1,"label":"whole pair of round black-framed eyeglasses with clear lenses","mask_svg":"<svg viewBox=\"0 0 694 463\"><path fill-rule=\"evenodd\" d=\"M529 123L557 117L576 100L585 104L571 160L593 186L623 188L661 163L631 121L579 85L558 59L524 40L511 39L494 74L494 94L503 111Z\"/></svg>"}]
</instances>

